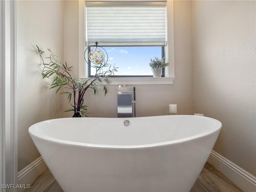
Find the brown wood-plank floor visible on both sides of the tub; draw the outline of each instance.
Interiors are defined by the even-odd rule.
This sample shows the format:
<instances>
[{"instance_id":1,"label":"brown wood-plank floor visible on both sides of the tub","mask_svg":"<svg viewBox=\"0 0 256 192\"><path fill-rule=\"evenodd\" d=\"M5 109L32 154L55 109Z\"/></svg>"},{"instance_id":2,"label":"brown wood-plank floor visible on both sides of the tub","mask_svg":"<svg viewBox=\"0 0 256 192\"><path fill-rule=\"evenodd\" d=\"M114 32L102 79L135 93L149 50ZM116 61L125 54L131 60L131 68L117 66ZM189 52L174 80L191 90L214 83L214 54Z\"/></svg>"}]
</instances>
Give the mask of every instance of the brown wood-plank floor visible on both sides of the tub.
<instances>
[{"instance_id":1,"label":"brown wood-plank floor visible on both sides of the tub","mask_svg":"<svg viewBox=\"0 0 256 192\"><path fill-rule=\"evenodd\" d=\"M26 192L63 192L49 169L46 169ZM242 192L234 183L206 163L190 192Z\"/></svg>"}]
</instances>

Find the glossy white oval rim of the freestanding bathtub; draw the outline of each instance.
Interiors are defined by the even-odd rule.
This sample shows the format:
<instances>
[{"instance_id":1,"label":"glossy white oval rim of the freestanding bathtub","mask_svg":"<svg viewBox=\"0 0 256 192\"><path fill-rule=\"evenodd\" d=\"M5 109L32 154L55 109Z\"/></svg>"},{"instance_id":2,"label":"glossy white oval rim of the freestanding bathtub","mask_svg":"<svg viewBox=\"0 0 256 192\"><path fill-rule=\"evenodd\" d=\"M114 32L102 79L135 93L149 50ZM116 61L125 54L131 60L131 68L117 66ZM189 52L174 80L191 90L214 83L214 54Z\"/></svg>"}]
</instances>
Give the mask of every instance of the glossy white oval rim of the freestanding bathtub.
<instances>
[{"instance_id":1,"label":"glossy white oval rim of the freestanding bathtub","mask_svg":"<svg viewBox=\"0 0 256 192\"><path fill-rule=\"evenodd\" d=\"M220 130L222 128L222 123L219 120L216 120L216 119L210 118L210 117L206 117L206 116L194 116L194 115L162 115L162 116L193 116L194 118L211 119L211 120L214 120L216 122L216 127L214 127L215 130L213 130L213 131L212 130L208 130L206 132L202 132L200 134L196 134L194 136L190 136L190 137L186 137L186 138L176 139L176 140L172 140L172 141L157 142L157 143L152 143L152 144L140 144L140 145L91 144L91 143L83 143L83 142L75 142L75 141L69 141L69 140L62 140L62 139L57 139L57 138L53 138L53 137L45 136L45 135L44 136L38 136L38 134L36 134L34 132L34 127L36 127L37 124L40 124L40 123L43 123L43 122L49 122L51 120L74 119L72 117L56 118L56 119L44 120L44 121L35 123L35 124L31 125L28 128L28 132L29 132L31 138L32 138L32 136L34 136L36 138L39 138L39 139L42 139L42 140L46 140L47 142L54 142L54 143L64 144L64 145L92 147L92 148L134 149L134 148L152 148L152 147L158 147L158 146L165 146L165 145L169 145L169 144L178 144L178 143L194 140L196 138L201 138L201 137L204 137L204 136L208 136L210 134L214 134L215 132L220 132ZM136 118L150 118L150 117L161 117L161 116L146 116L146 117L136 117ZM85 117L85 118L88 118L88 117ZM101 118L101 119L104 119L104 117L89 117L89 118ZM122 118L122 119L131 119L131 118ZM32 138L32 140L33 140L33 138Z\"/></svg>"}]
</instances>

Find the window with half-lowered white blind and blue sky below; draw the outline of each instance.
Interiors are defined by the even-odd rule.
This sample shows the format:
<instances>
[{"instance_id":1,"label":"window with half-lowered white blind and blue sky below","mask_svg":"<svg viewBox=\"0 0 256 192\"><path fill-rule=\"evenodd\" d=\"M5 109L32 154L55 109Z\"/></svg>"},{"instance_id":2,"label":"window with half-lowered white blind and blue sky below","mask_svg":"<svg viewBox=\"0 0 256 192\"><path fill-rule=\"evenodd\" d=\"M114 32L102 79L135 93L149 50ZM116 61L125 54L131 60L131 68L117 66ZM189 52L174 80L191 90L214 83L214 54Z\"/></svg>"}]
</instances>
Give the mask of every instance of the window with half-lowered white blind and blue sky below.
<instances>
[{"instance_id":1,"label":"window with half-lowered white blind and blue sky below","mask_svg":"<svg viewBox=\"0 0 256 192\"><path fill-rule=\"evenodd\" d=\"M116 77L151 77L150 58L167 54L166 2L86 2L85 28L86 46L104 47Z\"/></svg>"}]
</instances>

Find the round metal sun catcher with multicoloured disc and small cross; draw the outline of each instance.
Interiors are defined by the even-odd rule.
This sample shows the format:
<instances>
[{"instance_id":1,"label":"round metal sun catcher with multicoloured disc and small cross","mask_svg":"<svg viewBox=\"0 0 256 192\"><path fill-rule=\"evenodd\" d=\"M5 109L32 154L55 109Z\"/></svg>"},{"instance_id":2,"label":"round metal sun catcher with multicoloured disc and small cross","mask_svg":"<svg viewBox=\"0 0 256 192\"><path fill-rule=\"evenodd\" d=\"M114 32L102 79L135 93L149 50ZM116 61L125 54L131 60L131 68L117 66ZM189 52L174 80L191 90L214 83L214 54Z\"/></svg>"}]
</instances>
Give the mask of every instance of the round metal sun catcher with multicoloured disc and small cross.
<instances>
[{"instance_id":1,"label":"round metal sun catcher with multicoloured disc and small cross","mask_svg":"<svg viewBox=\"0 0 256 192\"><path fill-rule=\"evenodd\" d=\"M95 42L95 44L96 44L96 48L93 48L93 47L95 47L95 45L92 45L92 46L89 46L84 52L84 59L85 59L86 63L89 64L89 62L87 61L87 58L90 60L91 63L96 64L96 65L102 64L104 61L106 63L108 61L108 54L107 54L106 50L104 48L102 48L101 46L98 46L98 42ZM105 57L104 52L102 50L98 49L98 47L100 47L105 52L106 57ZM88 57L86 56L87 50L89 51Z\"/></svg>"}]
</instances>

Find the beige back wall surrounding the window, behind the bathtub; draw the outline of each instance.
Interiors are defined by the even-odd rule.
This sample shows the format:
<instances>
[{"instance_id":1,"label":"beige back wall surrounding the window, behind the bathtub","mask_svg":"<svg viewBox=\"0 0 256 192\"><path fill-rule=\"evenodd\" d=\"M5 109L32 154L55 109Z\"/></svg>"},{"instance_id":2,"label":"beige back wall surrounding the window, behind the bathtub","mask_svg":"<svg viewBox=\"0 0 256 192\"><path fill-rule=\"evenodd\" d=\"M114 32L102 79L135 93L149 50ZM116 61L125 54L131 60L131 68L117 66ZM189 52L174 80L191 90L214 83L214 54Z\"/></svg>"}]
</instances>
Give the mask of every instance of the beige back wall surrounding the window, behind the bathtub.
<instances>
[{"instance_id":1,"label":"beige back wall surrounding the window, behind the bathtub","mask_svg":"<svg viewBox=\"0 0 256 192\"><path fill-rule=\"evenodd\" d=\"M65 2L64 60L75 66L78 76L78 2ZM67 6L68 5L68 6ZM70 7L71 10L70 10ZM75 9L76 8L76 9ZM175 80L173 85L136 85L136 116L168 115L169 104L178 104L178 114L193 114L192 73L192 2L174 2L174 61ZM110 85L108 94L94 96L92 90L86 93L85 102L91 117L117 117L117 86ZM64 107L68 109L64 99ZM70 117L72 113L64 113Z\"/></svg>"}]
</instances>

